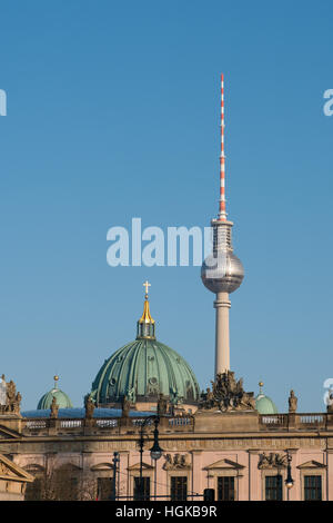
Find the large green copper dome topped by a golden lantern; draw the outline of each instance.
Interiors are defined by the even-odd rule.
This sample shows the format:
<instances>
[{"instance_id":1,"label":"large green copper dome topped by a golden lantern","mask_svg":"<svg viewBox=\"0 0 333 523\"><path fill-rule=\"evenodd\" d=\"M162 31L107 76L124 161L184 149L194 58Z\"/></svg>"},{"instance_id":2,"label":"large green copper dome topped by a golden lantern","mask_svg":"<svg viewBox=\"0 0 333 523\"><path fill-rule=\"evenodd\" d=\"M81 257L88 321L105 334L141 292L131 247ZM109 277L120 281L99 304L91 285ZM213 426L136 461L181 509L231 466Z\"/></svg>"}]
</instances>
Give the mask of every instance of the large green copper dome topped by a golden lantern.
<instances>
[{"instance_id":1,"label":"large green copper dome topped by a golden lantern","mask_svg":"<svg viewBox=\"0 0 333 523\"><path fill-rule=\"evenodd\" d=\"M188 363L172 348L155 338L155 322L145 295L144 309L138 322L137 339L105 359L91 389L98 406L120 403L155 402L160 394L172 403L194 404L199 385Z\"/></svg>"}]
</instances>

